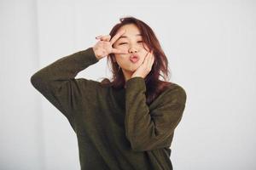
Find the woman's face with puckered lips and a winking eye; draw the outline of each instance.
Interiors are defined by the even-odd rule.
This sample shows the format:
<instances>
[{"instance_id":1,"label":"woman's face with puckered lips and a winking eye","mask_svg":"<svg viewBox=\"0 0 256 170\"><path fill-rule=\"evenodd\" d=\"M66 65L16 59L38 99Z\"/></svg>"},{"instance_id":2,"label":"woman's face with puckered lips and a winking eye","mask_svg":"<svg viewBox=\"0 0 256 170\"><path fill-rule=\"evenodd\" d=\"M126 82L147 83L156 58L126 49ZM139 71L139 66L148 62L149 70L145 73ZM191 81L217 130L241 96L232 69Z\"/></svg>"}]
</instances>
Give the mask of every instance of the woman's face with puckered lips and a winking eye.
<instances>
[{"instance_id":1,"label":"woman's face with puckered lips and a winking eye","mask_svg":"<svg viewBox=\"0 0 256 170\"><path fill-rule=\"evenodd\" d=\"M114 54L114 60L124 73L132 73L143 64L143 60L148 54L148 47L143 42L141 32L136 25L128 24L120 27L118 31L122 30L125 30L125 33L113 43L113 48L125 49L128 54ZM134 54L138 56L137 61L130 60Z\"/></svg>"}]
</instances>

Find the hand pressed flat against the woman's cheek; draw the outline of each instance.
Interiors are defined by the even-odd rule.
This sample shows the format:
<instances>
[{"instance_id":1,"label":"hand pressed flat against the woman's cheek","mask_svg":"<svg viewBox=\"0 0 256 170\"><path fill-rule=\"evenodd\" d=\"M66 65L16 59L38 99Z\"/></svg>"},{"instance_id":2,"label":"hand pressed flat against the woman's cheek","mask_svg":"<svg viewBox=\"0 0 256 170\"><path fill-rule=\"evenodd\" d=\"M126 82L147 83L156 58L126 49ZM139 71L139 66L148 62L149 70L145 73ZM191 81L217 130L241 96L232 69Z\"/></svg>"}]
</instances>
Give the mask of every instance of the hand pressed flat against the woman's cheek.
<instances>
[{"instance_id":1,"label":"hand pressed flat against the woman's cheek","mask_svg":"<svg viewBox=\"0 0 256 170\"><path fill-rule=\"evenodd\" d=\"M154 64L154 54L153 52L148 52L143 64L140 65L137 70L131 75L132 77L147 77L148 73L151 71L152 65Z\"/></svg>"}]
</instances>

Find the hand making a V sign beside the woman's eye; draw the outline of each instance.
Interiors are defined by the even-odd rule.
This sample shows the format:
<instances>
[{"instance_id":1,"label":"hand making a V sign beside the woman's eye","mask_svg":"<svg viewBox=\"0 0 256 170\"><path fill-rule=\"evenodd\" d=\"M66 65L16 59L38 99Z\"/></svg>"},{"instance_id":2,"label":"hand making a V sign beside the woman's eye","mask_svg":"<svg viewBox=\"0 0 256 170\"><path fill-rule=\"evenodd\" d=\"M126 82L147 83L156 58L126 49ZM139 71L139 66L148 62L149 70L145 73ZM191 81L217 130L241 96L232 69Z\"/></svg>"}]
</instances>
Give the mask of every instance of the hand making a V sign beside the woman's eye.
<instances>
[{"instance_id":1,"label":"hand making a V sign beside the woman's eye","mask_svg":"<svg viewBox=\"0 0 256 170\"><path fill-rule=\"evenodd\" d=\"M108 54L128 54L128 52L125 50L113 48L113 43L116 42L124 33L124 30L119 31L112 39L110 35L97 36L96 39L100 39L100 41L96 42L95 46L93 47L96 58L102 59L103 57L108 56Z\"/></svg>"}]
</instances>

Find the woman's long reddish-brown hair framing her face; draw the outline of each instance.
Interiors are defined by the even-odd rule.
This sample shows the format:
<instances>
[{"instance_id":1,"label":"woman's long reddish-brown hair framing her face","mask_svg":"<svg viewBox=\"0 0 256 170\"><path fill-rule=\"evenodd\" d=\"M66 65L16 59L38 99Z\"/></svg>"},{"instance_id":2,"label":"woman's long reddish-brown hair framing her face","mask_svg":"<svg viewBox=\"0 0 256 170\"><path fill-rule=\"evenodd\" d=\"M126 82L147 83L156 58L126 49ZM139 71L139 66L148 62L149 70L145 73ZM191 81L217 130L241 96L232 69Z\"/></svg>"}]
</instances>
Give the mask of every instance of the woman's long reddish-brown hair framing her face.
<instances>
[{"instance_id":1,"label":"woman's long reddish-brown hair framing her face","mask_svg":"<svg viewBox=\"0 0 256 170\"><path fill-rule=\"evenodd\" d=\"M135 24L139 31L141 31L143 42L147 44L149 50L153 49L154 53L154 64L152 65L151 71L148 73L147 77L144 78L146 84L146 103L149 105L152 101L164 91L172 82L167 82L169 80L170 71L168 70L168 60L166 54L160 47L160 42L154 34L154 31L142 20L138 20L134 17L124 17L119 19L120 23L113 26L109 35L113 37L121 26L127 24ZM113 77L111 81L108 78L102 80L102 85L112 86L113 88L124 88L125 77L117 62L113 60L114 54L108 55L108 65L110 63L111 71ZM162 73L162 74L161 74ZM160 77L164 81L160 80Z\"/></svg>"}]
</instances>

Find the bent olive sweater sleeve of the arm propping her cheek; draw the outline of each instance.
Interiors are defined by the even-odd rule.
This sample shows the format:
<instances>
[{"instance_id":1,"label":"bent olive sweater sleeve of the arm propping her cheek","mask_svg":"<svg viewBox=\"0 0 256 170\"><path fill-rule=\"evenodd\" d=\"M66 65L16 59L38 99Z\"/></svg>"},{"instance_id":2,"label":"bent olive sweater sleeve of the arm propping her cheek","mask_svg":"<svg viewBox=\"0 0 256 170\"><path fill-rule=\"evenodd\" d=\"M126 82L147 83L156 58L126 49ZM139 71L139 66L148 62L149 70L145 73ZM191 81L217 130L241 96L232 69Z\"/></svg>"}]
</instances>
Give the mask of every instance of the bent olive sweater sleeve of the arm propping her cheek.
<instances>
[{"instance_id":1,"label":"bent olive sweater sleeve of the arm propping her cheek","mask_svg":"<svg viewBox=\"0 0 256 170\"><path fill-rule=\"evenodd\" d=\"M143 77L133 77L126 82L125 136L132 150L170 147L170 138L183 116L186 93L180 86L169 89L149 111Z\"/></svg>"}]
</instances>

